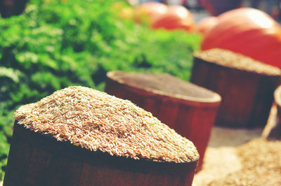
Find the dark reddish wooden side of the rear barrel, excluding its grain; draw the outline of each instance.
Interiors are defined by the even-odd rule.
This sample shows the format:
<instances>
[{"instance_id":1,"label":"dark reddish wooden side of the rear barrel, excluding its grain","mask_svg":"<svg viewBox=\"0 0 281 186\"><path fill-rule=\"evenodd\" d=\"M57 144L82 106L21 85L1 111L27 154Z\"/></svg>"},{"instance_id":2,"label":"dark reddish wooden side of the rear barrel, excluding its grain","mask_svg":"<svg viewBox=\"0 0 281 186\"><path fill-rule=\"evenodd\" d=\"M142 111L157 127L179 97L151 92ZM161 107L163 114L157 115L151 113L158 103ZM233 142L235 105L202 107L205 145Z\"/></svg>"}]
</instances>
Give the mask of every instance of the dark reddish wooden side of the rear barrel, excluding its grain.
<instances>
[{"instance_id":1,"label":"dark reddish wooden side of the rear barrel, excluding its grain","mask_svg":"<svg viewBox=\"0 0 281 186\"><path fill-rule=\"evenodd\" d=\"M265 126L280 75L243 71L195 57L190 82L221 95L216 124L251 128Z\"/></svg>"}]
</instances>

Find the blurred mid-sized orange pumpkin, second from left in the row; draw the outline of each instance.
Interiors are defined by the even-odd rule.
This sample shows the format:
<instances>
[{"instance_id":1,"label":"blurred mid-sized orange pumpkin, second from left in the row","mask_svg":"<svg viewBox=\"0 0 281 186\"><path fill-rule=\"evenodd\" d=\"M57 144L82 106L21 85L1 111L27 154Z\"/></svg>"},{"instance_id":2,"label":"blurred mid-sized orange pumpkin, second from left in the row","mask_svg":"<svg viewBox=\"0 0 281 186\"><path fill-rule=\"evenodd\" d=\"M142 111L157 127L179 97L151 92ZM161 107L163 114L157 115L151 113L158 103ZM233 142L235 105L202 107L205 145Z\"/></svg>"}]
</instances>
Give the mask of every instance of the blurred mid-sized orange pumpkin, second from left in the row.
<instances>
[{"instance_id":1,"label":"blurred mid-sized orange pumpkin, second from left in the row","mask_svg":"<svg viewBox=\"0 0 281 186\"><path fill-rule=\"evenodd\" d=\"M151 26L153 29L184 29L186 31L191 31L195 28L195 21L188 9L179 5L167 7L167 12L159 15L155 21L152 22Z\"/></svg>"}]
</instances>

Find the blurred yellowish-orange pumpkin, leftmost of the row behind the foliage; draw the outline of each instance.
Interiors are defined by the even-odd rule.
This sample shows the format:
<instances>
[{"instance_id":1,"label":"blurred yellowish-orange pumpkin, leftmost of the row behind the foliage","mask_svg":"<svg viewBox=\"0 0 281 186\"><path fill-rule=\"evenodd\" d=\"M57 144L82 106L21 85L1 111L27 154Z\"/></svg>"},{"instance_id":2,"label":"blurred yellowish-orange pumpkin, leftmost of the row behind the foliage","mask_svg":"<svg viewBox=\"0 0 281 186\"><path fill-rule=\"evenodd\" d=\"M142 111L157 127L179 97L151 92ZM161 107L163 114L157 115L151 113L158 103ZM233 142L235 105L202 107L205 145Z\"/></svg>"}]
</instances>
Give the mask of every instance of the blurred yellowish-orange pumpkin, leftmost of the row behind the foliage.
<instances>
[{"instance_id":1,"label":"blurred yellowish-orange pumpkin, leftmost of the row behind the foliage","mask_svg":"<svg viewBox=\"0 0 281 186\"><path fill-rule=\"evenodd\" d=\"M138 23L148 21L148 23L151 24L156 17L165 14L166 11L167 6L164 3L143 3L135 8L135 21Z\"/></svg>"}]
</instances>

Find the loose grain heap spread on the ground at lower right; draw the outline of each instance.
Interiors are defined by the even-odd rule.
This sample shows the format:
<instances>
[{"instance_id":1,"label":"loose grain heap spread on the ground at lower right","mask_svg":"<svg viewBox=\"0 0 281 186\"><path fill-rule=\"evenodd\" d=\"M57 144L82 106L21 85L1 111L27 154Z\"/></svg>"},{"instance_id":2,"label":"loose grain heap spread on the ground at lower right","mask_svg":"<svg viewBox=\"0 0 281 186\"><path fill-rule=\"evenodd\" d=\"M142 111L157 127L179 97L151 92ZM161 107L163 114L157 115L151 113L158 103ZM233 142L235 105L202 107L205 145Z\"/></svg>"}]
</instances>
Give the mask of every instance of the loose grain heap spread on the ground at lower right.
<instances>
[{"instance_id":1,"label":"loose grain heap spread on the ground at lower right","mask_svg":"<svg viewBox=\"0 0 281 186\"><path fill-rule=\"evenodd\" d=\"M281 141L256 139L237 148L242 169L209 185L281 185Z\"/></svg>"}]
</instances>

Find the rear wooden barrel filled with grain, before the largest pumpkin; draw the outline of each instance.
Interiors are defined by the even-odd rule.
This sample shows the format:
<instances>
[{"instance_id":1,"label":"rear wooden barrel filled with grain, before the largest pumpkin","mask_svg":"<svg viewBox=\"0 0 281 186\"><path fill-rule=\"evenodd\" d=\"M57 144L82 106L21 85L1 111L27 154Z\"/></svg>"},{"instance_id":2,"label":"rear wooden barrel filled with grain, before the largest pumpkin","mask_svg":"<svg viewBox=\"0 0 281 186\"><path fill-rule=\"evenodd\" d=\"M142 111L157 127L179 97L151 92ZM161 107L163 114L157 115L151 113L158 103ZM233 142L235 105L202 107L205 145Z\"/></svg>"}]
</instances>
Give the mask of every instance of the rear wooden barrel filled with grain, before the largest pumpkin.
<instances>
[{"instance_id":1,"label":"rear wooden barrel filled with grain, before the largest pumpkin","mask_svg":"<svg viewBox=\"0 0 281 186\"><path fill-rule=\"evenodd\" d=\"M265 126L280 69L221 49L196 52L190 81L222 97L216 124Z\"/></svg>"}]
</instances>

